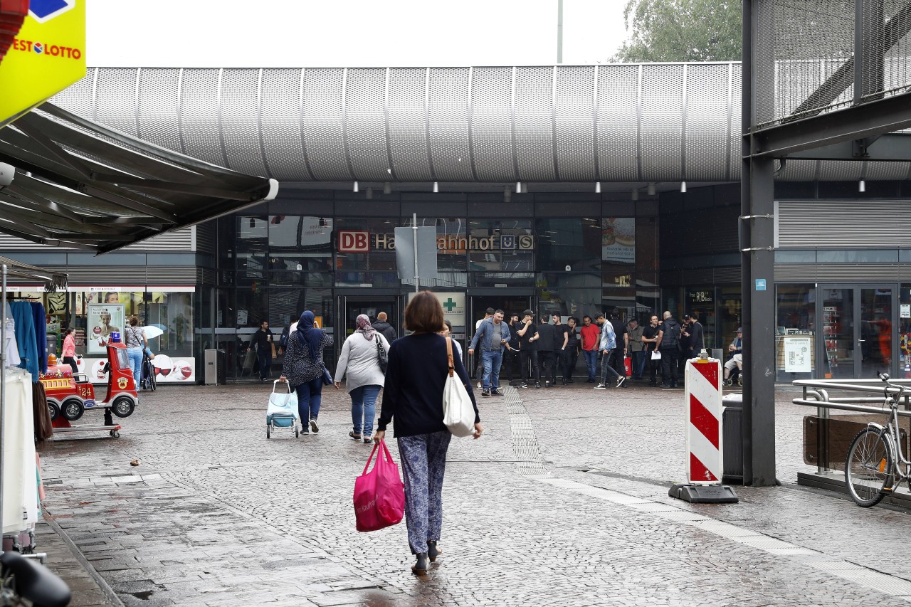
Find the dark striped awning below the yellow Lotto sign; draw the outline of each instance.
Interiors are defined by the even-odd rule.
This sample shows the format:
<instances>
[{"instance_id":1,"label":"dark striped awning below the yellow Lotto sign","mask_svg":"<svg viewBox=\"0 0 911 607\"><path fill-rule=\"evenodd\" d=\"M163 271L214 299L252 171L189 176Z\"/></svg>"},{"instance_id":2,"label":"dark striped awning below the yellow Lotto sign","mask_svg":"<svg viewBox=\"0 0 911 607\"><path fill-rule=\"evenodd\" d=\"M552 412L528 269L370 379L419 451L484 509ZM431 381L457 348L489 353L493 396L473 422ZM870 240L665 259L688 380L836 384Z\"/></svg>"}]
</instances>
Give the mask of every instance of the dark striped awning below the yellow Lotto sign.
<instances>
[{"instance_id":1,"label":"dark striped awning below the yellow Lotto sign","mask_svg":"<svg viewBox=\"0 0 911 607\"><path fill-rule=\"evenodd\" d=\"M5 186L0 167L0 232L99 253L271 201L279 187L50 103L0 129L0 162L15 167Z\"/></svg>"}]
</instances>

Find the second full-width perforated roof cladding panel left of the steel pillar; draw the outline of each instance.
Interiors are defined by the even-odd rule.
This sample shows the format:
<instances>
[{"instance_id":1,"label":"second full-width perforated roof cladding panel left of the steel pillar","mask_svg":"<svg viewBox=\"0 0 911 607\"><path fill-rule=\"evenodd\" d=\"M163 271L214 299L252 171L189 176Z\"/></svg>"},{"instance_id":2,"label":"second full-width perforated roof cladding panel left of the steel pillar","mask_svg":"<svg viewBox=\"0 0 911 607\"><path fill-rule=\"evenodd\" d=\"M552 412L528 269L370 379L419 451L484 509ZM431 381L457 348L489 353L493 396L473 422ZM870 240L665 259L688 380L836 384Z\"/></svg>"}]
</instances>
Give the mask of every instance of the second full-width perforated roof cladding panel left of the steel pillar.
<instances>
[{"instance_id":1,"label":"second full-width perforated roof cladding panel left of the steel pillar","mask_svg":"<svg viewBox=\"0 0 911 607\"><path fill-rule=\"evenodd\" d=\"M642 179L664 181L683 175L683 66L642 66Z\"/></svg>"}]
</instances>

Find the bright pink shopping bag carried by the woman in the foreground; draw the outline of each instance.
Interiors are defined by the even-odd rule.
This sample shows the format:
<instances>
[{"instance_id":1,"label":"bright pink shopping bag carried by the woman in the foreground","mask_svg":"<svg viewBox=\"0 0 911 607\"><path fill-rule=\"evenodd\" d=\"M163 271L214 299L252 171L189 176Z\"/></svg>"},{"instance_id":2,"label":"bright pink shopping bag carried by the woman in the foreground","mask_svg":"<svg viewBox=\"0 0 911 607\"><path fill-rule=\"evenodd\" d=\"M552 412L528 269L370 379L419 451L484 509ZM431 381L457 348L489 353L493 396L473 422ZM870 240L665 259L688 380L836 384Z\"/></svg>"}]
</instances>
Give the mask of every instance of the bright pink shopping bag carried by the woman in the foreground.
<instances>
[{"instance_id":1,"label":"bright pink shopping bag carried by the woman in the foreground","mask_svg":"<svg viewBox=\"0 0 911 607\"><path fill-rule=\"evenodd\" d=\"M377 454L381 445L383 450ZM374 469L367 472L374 455ZM354 516L358 531L380 530L404 516L404 484L384 440L374 444L363 473L354 481Z\"/></svg>"}]
</instances>

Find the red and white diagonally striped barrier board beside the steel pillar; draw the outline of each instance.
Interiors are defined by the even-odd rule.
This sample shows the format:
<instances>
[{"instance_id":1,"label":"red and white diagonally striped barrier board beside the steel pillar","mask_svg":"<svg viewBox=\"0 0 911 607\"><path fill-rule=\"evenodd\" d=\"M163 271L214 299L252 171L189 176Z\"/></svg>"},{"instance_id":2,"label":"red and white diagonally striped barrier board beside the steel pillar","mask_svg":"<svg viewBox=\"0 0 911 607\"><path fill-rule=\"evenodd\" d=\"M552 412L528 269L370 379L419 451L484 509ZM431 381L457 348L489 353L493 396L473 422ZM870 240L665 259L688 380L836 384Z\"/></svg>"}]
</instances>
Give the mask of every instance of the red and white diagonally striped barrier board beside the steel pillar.
<instances>
[{"instance_id":1,"label":"red and white diagonally striped barrier board beside the steel pillar","mask_svg":"<svg viewBox=\"0 0 911 607\"><path fill-rule=\"evenodd\" d=\"M686 478L693 485L722 482L722 361L686 363Z\"/></svg>"}]
</instances>

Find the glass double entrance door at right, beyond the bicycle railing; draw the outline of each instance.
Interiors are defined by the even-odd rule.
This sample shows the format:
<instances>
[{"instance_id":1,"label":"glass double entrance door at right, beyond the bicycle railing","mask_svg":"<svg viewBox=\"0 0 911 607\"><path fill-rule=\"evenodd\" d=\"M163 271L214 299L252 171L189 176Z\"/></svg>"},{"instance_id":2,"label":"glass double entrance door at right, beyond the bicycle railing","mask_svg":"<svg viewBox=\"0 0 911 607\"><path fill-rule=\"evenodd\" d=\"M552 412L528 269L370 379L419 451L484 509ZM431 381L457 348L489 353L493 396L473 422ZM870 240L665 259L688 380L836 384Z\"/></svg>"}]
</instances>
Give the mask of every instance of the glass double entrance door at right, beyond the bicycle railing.
<instances>
[{"instance_id":1,"label":"glass double entrance door at right, beyond the bicycle railing","mask_svg":"<svg viewBox=\"0 0 911 607\"><path fill-rule=\"evenodd\" d=\"M895 374L893 286L821 285L823 376L874 378Z\"/></svg>"}]
</instances>

